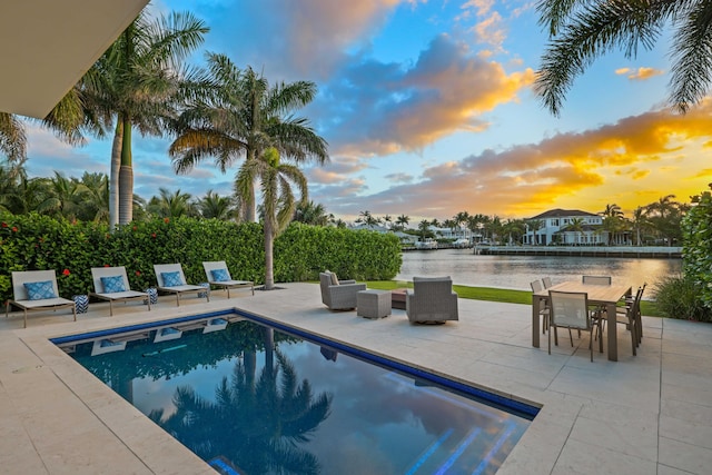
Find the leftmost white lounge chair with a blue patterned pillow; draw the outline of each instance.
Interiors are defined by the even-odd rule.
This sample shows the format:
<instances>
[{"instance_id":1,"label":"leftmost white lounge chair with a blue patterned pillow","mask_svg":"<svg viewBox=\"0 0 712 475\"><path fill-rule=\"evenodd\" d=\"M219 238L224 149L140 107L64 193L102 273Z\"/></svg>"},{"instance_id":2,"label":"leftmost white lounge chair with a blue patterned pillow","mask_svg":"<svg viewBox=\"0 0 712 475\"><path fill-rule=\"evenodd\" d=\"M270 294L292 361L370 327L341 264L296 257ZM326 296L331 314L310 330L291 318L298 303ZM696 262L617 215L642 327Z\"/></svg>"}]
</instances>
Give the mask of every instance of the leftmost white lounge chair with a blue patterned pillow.
<instances>
[{"instance_id":1,"label":"leftmost white lounge chair with a blue patterned pillow","mask_svg":"<svg viewBox=\"0 0 712 475\"><path fill-rule=\"evenodd\" d=\"M77 305L59 296L57 274L55 270L20 270L12 273L12 300L4 305L4 316L9 315L10 306L21 308L24 314L27 328L27 313L40 310L57 310L71 308L77 321Z\"/></svg>"}]
</instances>

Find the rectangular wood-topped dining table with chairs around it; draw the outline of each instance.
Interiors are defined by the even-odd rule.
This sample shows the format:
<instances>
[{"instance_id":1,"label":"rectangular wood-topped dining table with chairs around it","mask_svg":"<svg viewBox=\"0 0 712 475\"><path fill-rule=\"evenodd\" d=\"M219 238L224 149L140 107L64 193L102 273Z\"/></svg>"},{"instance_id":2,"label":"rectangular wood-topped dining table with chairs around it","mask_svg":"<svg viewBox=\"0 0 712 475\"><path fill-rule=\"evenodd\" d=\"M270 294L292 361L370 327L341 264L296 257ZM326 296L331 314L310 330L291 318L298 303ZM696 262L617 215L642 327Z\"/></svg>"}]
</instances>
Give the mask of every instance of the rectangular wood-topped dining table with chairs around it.
<instances>
[{"instance_id":1,"label":"rectangular wood-topped dining table with chairs around it","mask_svg":"<svg viewBox=\"0 0 712 475\"><path fill-rule=\"evenodd\" d=\"M577 291L585 293L587 295L589 304L605 306L606 320L607 320L607 350L609 360L619 360L619 347L617 347L617 324L616 324L616 306L619 300L625 297L630 297L632 293L632 286L626 284L611 284L611 285L595 285L583 284L582 281L567 280L561 284L553 285L546 289L535 291L532 294L532 346L534 348L540 347L540 311L542 305L548 299L548 290L561 291Z\"/></svg>"}]
</instances>

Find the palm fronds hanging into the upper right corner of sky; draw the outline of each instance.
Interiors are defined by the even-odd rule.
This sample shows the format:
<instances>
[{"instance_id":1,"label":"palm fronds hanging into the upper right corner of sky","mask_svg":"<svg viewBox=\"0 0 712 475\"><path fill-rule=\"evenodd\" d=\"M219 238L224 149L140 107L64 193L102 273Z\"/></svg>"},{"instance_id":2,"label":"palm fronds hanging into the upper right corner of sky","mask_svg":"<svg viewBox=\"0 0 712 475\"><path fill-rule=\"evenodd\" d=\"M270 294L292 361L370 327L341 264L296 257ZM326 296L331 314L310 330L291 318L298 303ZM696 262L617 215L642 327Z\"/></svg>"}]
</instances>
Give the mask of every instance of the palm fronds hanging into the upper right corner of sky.
<instances>
[{"instance_id":1,"label":"palm fronds hanging into the upper right corner of sky","mask_svg":"<svg viewBox=\"0 0 712 475\"><path fill-rule=\"evenodd\" d=\"M670 101L681 112L706 97L712 83L712 6L705 1L542 0L540 23L551 42L534 83L544 106L558 115L574 78L593 61L622 47L634 58L652 49L671 27Z\"/></svg>"}]
</instances>

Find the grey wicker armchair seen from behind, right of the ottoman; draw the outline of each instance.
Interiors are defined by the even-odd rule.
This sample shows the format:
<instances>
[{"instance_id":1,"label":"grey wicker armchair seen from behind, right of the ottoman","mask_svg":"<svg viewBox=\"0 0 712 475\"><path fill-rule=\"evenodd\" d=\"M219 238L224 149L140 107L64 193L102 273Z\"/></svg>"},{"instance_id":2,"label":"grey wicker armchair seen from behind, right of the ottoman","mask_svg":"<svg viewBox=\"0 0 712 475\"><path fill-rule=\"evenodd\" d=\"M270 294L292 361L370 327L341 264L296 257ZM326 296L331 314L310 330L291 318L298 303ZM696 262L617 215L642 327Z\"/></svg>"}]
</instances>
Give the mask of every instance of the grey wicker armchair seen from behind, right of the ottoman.
<instances>
[{"instance_id":1,"label":"grey wicker armchair seen from behind, right of the ottoman","mask_svg":"<svg viewBox=\"0 0 712 475\"><path fill-rule=\"evenodd\" d=\"M413 289L405 296L411 323L444 324L457 320L457 294L449 277L413 277Z\"/></svg>"}]
</instances>

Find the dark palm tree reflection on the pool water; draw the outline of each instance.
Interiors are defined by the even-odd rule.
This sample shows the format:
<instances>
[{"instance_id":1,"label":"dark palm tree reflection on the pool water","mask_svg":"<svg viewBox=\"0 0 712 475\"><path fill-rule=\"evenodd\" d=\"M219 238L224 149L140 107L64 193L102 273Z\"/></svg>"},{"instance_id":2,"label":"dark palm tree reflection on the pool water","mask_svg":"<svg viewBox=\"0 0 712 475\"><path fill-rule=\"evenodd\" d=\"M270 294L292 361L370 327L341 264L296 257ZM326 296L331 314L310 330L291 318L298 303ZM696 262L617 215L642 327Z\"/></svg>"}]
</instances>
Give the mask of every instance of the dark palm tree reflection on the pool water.
<instances>
[{"instance_id":1,"label":"dark palm tree reflection on the pool water","mask_svg":"<svg viewBox=\"0 0 712 475\"><path fill-rule=\"evenodd\" d=\"M271 345L265 350L269 362ZM182 386L174 395L172 415L164 419L159 409L149 417L205 461L222 456L248 474L320 473L318 459L301 444L329 416L332 395L313 395L309 382L299 383L293 364L274 353L276 362L257 379L254 365L237 362L231 378L217 386L215 402Z\"/></svg>"}]
</instances>

